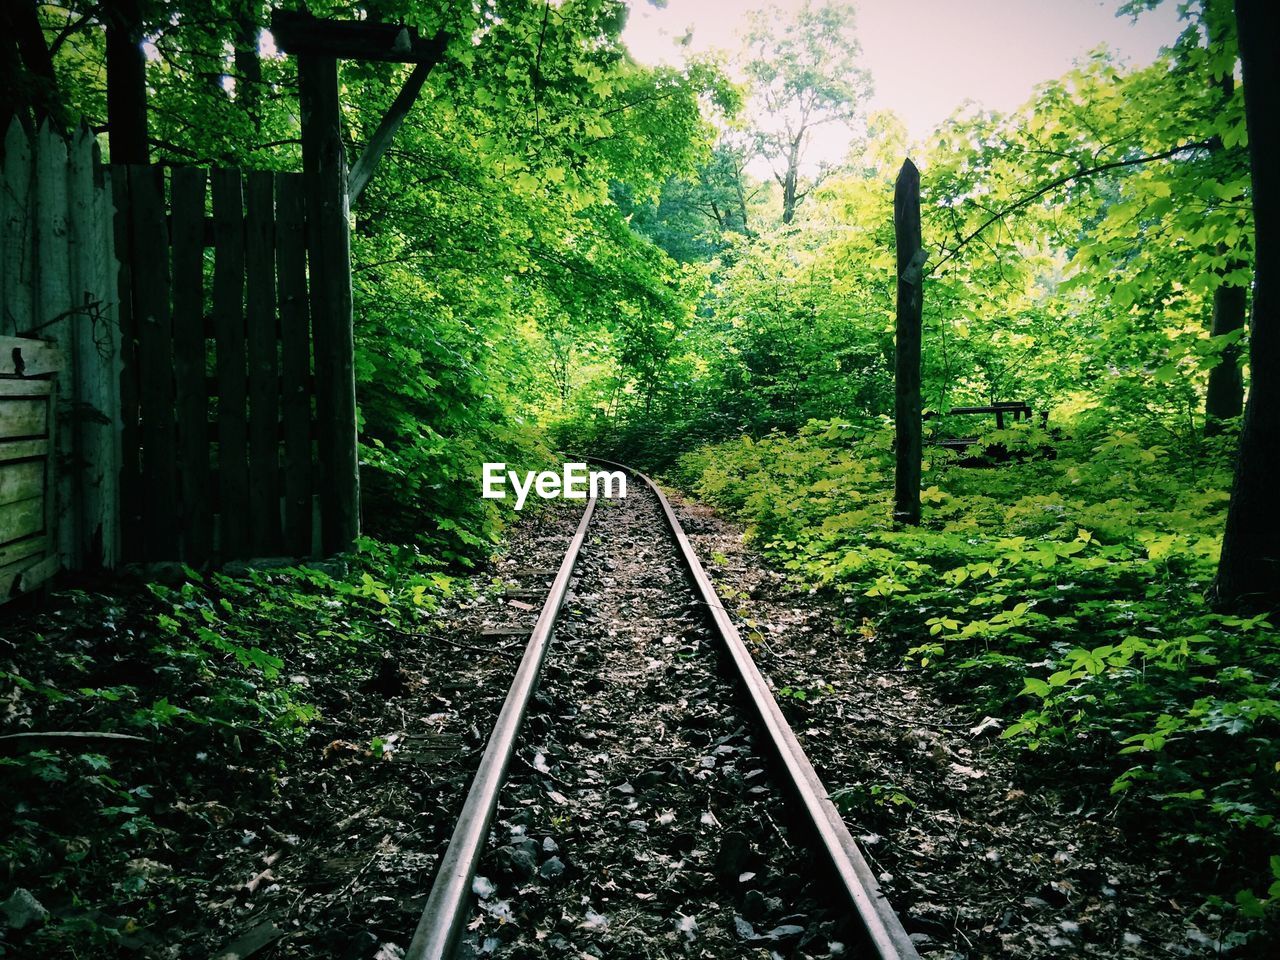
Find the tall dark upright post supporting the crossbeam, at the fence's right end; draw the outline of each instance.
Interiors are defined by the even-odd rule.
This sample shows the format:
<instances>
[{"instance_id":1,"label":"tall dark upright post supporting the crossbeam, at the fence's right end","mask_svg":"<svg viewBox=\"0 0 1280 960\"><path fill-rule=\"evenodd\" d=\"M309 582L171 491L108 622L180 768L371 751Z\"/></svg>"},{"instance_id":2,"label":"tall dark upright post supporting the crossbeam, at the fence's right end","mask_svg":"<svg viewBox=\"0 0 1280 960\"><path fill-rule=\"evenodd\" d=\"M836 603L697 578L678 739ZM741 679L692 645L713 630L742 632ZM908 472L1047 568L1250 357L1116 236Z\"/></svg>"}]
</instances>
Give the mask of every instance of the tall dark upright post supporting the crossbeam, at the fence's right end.
<instances>
[{"instance_id":1,"label":"tall dark upright post supporting the crossbeam, at the fence's right end","mask_svg":"<svg viewBox=\"0 0 1280 960\"><path fill-rule=\"evenodd\" d=\"M307 189L321 547L325 553L335 553L360 535L351 234L337 58L298 55L298 97Z\"/></svg>"}]
</instances>

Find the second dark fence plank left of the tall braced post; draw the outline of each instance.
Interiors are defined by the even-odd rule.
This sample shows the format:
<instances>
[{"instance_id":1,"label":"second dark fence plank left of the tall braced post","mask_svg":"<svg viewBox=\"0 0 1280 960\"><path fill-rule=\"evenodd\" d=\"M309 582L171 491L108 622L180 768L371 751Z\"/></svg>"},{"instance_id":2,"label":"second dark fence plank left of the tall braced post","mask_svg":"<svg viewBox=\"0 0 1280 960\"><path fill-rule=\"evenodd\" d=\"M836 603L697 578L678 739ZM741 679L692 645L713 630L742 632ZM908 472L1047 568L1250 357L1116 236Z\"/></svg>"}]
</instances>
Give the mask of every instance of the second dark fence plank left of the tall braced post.
<instances>
[{"instance_id":1,"label":"second dark fence plank left of the tall braced post","mask_svg":"<svg viewBox=\"0 0 1280 960\"><path fill-rule=\"evenodd\" d=\"M250 549L278 554L280 543L279 337L275 326L273 177L248 175L246 294L248 316Z\"/></svg>"}]
</instances>

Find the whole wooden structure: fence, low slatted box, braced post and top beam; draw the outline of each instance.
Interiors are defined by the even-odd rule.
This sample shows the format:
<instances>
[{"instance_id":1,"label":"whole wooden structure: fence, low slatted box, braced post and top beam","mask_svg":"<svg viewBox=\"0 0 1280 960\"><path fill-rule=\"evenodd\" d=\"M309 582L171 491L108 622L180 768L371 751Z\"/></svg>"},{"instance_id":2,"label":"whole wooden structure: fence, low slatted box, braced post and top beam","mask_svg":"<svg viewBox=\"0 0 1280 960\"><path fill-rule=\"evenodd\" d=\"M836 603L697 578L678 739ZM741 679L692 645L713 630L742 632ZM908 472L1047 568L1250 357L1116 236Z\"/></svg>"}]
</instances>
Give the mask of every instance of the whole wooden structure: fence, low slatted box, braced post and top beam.
<instances>
[{"instance_id":1,"label":"whole wooden structure: fence, low slatted box, braced post and top beam","mask_svg":"<svg viewBox=\"0 0 1280 960\"><path fill-rule=\"evenodd\" d=\"M105 168L88 129L5 132L0 599L59 563L333 553L360 532L349 206L445 37L271 26L298 55L301 174ZM415 64L349 174L339 58Z\"/></svg>"}]
</instances>

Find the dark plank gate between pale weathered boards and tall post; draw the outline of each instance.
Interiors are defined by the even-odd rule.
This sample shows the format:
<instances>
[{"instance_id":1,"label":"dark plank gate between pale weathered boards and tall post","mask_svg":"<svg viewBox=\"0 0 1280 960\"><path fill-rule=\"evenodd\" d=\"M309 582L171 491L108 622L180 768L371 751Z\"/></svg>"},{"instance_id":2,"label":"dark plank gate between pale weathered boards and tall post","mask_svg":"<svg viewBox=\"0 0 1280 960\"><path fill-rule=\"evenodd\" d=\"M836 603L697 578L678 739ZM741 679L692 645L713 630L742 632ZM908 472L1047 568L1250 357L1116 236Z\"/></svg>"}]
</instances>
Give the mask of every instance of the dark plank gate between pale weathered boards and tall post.
<instances>
[{"instance_id":1,"label":"dark plank gate between pale weathered boards and tall post","mask_svg":"<svg viewBox=\"0 0 1280 960\"><path fill-rule=\"evenodd\" d=\"M333 494L317 483L326 383L315 375L302 174L111 173L124 556L317 552Z\"/></svg>"}]
</instances>

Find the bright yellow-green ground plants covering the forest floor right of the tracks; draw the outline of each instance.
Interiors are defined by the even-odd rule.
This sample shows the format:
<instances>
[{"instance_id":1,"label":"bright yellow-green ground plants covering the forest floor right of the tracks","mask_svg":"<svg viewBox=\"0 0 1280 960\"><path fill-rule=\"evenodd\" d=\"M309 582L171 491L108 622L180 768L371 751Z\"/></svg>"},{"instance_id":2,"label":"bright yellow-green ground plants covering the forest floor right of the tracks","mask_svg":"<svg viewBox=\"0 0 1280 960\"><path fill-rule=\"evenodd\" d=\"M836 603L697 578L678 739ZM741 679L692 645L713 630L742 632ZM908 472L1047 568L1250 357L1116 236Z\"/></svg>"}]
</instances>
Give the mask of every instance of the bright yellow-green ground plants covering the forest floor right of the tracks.
<instances>
[{"instance_id":1,"label":"bright yellow-green ground plants covering the forest floor right of the tracks","mask_svg":"<svg viewBox=\"0 0 1280 960\"><path fill-rule=\"evenodd\" d=\"M1046 458L1039 430L997 439L1027 457L972 468L931 449L919 529L891 521L878 425L708 447L675 476L799 581L841 595L851 641L904 639L975 717L1004 717L1012 745L1091 758L1123 809L1161 810L1165 835L1228 882L1261 883L1280 849L1280 632L1203 599L1226 444L1080 428Z\"/></svg>"}]
</instances>

